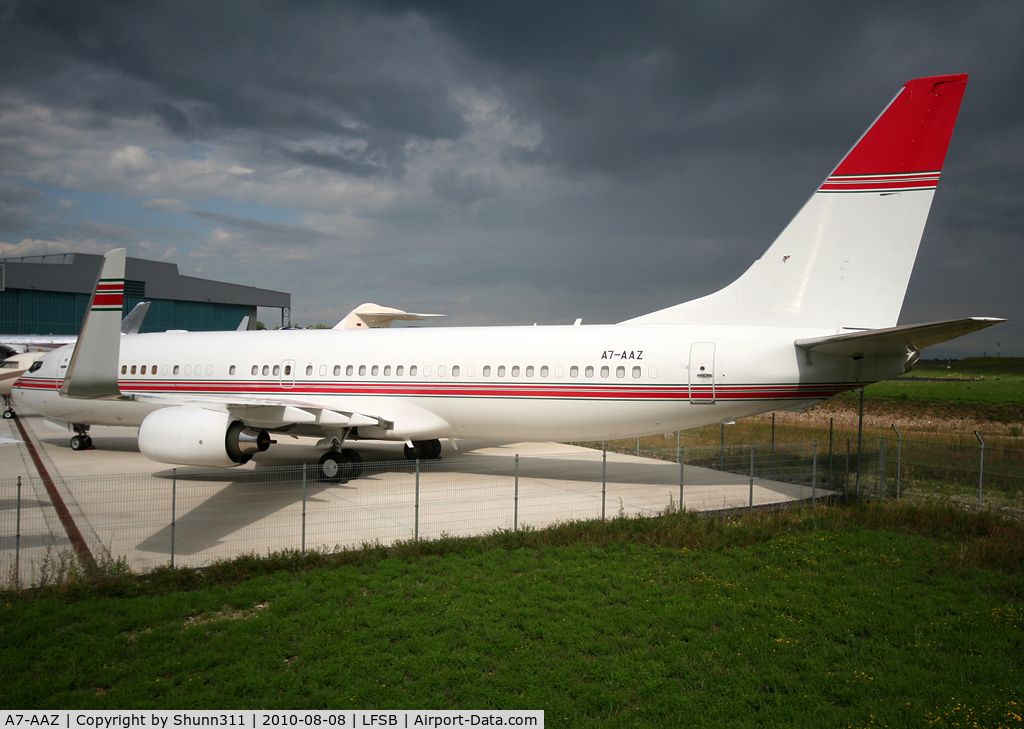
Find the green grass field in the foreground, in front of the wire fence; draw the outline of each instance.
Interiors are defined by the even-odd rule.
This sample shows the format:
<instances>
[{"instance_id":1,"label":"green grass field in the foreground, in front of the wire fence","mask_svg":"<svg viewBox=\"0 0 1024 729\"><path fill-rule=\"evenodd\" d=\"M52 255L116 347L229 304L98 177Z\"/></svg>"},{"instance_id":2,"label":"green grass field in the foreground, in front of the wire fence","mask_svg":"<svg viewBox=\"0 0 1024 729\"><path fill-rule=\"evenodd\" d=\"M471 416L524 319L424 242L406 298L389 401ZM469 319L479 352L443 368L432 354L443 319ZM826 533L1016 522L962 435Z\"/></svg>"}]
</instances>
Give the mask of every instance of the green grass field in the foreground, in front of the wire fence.
<instances>
[{"instance_id":1,"label":"green grass field in the foreground, in front of the wire fence","mask_svg":"<svg viewBox=\"0 0 1024 729\"><path fill-rule=\"evenodd\" d=\"M5 594L4 709L542 709L548 726L1021 725L1024 527L669 513Z\"/></svg>"}]
</instances>

